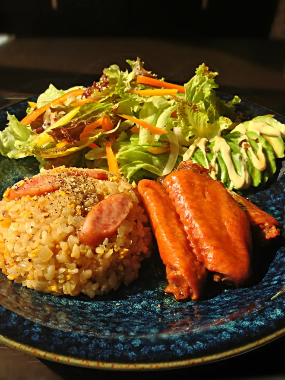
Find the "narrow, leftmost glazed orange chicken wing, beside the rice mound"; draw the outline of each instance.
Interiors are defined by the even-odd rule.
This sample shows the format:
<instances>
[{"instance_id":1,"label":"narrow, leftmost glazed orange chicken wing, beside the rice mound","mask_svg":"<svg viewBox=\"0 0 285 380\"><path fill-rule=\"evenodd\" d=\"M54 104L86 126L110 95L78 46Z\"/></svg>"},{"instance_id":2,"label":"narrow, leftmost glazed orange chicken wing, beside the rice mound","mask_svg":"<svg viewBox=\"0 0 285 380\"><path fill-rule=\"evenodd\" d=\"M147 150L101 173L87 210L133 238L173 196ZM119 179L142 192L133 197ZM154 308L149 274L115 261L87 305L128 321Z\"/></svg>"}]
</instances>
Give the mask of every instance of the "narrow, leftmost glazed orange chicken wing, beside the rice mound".
<instances>
[{"instance_id":1,"label":"narrow, leftmost glazed orange chicken wing, beside the rice mound","mask_svg":"<svg viewBox=\"0 0 285 380\"><path fill-rule=\"evenodd\" d=\"M197 299L207 271L193 255L171 199L163 187L152 180L141 180L138 192L149 214L161 259L166 265L169 285L165 291L174 294L176 299L189 296Z\"/></svg>"}]
</instances>

